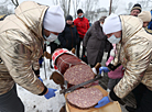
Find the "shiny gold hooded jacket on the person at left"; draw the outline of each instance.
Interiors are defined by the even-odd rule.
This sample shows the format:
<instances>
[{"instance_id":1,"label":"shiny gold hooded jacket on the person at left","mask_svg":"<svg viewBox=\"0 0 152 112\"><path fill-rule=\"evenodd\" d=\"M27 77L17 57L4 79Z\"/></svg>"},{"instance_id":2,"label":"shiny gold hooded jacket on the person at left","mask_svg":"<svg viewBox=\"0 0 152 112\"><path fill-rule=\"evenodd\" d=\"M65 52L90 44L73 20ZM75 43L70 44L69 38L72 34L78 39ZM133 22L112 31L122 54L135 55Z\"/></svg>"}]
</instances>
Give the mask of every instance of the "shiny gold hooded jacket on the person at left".
<instances>
[{"instance_id":1,"label":"shiny gold hooded jacket on the person at left","mask_svg":"<svg viewBox=\"0 0 152 112\"><path fill-rule=\"evenodd\" d=\"M40 94L45 86L35 76L43 54L42 23L48 7L24 1L14 14L0 22L0 94L12 89L14 82Z\"/></svg>"}]
</instances>

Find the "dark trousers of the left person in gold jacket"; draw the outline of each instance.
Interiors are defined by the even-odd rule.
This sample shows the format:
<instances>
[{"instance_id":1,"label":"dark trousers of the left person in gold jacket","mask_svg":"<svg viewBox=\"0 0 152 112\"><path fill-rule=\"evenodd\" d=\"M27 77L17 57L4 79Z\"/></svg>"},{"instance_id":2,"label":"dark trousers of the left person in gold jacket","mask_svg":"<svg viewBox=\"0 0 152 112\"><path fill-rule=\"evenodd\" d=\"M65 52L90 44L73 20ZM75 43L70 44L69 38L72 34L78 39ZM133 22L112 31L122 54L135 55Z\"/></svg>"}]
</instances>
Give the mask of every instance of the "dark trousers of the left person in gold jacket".
<instances>
[{"instance_id":1,"label":"dark trousers of the left person in gold jacket","mask_svg":"<svg viewBox=\"0 0 152 112\"><path fill-rule=\"evenodd\" d=\"M17 93L17 86L0 96L0 112L24 112L24 105Z\"/></svg>"}]
</instances>

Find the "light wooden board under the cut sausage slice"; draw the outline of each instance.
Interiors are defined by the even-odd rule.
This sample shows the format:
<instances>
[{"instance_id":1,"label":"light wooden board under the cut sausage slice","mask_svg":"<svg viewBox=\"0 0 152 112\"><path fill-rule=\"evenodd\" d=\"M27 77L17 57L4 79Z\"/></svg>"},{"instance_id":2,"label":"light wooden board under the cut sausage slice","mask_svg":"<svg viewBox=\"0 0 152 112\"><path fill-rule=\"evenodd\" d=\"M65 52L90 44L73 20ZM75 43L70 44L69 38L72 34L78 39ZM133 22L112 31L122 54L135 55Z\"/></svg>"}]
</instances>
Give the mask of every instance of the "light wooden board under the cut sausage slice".
<instances>
[{"instance_id":1,"label":"light wooden board under the cut sausage slice","mask_svg":"<svg viewBox=\"0 0 152 112\"><path fill-rule=\"evenodd\" d=\"M93 88L98 88L102 92L104 97L108 96L108 92L105 89L102 89L100 86L94 86ZM65 98L67 94L68 93L65 94ZM118 101L110 102L109 104L98 109L90 108L88 110L80 110L80 109L74 108L66 102L66 111L67 112L122 112Z\"/></svg>"}]
</instances>

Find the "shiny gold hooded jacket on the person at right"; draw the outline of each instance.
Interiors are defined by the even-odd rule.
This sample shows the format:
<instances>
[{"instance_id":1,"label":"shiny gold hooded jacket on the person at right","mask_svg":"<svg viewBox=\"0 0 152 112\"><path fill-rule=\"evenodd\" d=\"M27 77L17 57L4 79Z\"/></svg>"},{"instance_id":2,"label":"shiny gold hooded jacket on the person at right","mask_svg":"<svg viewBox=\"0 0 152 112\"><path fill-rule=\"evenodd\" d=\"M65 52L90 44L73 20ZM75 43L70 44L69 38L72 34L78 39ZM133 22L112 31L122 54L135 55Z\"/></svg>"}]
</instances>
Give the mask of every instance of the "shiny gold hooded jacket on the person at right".
<instances>
[{"instance_id":1,"label":"shiny gold hooded jacket on the person at right","mask_svg":"<svg viewBox=\"0 0 152 112\"><path fill-rule=\"evenodd\" d=\"M120 15L122 41L117 44L116 58L108 65L116 68L121 63L124 76L113 88L119 98L124 98L140 82L152 91L152 35L142 27L142 21L132 15Z\"/></svg>"}]
</instances>

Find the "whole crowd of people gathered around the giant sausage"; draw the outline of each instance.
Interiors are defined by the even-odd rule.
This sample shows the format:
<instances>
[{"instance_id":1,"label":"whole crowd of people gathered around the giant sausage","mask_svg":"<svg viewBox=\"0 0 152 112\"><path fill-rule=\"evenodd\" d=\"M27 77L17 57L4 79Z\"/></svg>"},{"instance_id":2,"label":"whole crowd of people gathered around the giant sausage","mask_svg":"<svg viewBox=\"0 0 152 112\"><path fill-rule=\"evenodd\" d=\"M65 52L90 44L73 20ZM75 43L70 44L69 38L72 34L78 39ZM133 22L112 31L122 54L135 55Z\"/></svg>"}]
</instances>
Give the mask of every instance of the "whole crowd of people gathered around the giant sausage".
<instances>
[{"instance_id":1,"label":"whole crowd of people gathered around the giant sausage","mask_svg":"<svg viewBox=\"0 0 152 112\"><path fill-rule=\"evenodd\" d=\"M108 72L109 94L95 108L119 101L132 91L137 108L127 107L129 112L152 110L151 11L142 11L137 3L130 15L112 13L97 19L91 26L82 9L77 16L74 21L72 15L64 18L59 5L24 1L14 14L1 20L0 112L24 112L15 83L46 99L55 97L56 89L47 88L40 77L45 42L51 53L56 48L76 48L76 56L90 67L101 63L104 53L108 53L99 74Z\"/></svg>"}]
</instances>

